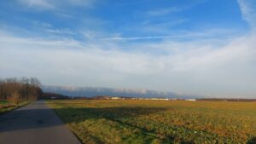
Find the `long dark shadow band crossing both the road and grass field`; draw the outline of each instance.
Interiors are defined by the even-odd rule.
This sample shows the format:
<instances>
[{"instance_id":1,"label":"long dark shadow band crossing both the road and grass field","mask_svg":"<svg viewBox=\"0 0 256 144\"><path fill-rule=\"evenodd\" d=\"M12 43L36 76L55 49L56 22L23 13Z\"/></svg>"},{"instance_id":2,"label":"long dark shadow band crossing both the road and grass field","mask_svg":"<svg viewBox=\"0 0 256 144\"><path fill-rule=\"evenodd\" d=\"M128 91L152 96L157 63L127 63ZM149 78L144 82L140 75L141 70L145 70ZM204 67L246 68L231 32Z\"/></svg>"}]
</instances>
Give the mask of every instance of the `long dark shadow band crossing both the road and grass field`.
<instances>
[{"instance_id":1,"label":"long dark shadow band crossing both the road and grass field","mask_svg":"<svg viewBox=\"0 0 256 144\"><path fill-rule=\"evenodd\" d=\"M44 105L44 104L33 104ZM40 107L40 106L38 106ZM108 118L117 121L119 118L137 117L148 115L152 112L165 111L165 108L139 108L139 107L107 107L107 108L56 108L55 112L61 117L56 117L55 112L48 107L21 107L11 112L0 115L1 132L14 130L41 129L62 125L63 123L79 123L85 119ZM138 110L139 109L139 110ZM61 113L60 113L61 112ZM122 123L119 121L119 123Z\"/></svg>"}]
</instances>

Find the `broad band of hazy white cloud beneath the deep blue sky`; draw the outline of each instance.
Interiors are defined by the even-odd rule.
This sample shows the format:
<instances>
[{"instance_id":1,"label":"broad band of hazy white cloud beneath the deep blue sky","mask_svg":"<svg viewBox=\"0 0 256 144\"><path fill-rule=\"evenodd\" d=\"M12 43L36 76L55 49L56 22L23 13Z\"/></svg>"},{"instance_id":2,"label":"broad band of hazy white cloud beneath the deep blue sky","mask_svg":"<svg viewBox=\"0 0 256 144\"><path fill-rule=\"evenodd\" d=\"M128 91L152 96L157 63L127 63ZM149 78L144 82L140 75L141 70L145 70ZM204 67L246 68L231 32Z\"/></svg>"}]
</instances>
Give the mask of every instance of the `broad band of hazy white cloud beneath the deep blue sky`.
<instances>
[{"instance_id":1,"label":"broad band of hazy white cloud beneath the deep blue sky","mask_svg":"<svg viewBox=\"0 0 256 144\"><path fill-rule=\"evenodd\" d=\"M255 35L230 42L80 43L0 34L0 76L36 76L44 84L146 88L185 94L255 97ZM221 46L219 46L221 45ZM147 49L152 51L148 53ZM165 55L154 51L163 50Z\"/></svg>"}]
</instances>

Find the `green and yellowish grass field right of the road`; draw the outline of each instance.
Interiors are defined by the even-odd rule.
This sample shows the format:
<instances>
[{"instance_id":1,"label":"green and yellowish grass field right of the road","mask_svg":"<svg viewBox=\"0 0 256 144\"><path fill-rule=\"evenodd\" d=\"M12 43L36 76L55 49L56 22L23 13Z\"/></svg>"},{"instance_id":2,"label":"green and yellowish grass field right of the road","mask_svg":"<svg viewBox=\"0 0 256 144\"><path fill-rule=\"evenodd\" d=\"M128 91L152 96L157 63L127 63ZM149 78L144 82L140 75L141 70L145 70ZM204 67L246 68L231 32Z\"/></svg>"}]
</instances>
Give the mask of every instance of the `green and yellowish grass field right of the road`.
<instances>
[{"instance_id":1,"label":"green and yellowish grass field right of the road","mask_svg":"<svg viewBox=\"0 0 256 144\"><path fill-rule=\"evenodd\" d=\"M84 143L254 143L256 103L48 101Z\"/></svg>"}]
</instances>

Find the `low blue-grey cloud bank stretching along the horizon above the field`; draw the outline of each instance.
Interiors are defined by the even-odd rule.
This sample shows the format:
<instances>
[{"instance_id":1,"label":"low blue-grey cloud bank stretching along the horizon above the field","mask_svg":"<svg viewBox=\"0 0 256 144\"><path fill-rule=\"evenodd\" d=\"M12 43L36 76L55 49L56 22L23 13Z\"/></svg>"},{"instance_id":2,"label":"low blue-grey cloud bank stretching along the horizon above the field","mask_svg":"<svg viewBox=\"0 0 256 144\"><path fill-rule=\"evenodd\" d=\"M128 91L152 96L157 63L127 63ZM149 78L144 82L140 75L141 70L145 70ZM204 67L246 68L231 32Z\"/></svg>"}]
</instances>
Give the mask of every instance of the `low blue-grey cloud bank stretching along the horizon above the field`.
<instances>
[{"instance_id":1,"label":"low blue-grey cloud bank stretching along the horizon above the field","mask_svg":"<svg viewBox=\"0 0 256 144\"><path fill-rule=\"evenodd\" d=\"M125 96L125 97L165 97L177 99L201 99L201 98L224 98L224 99L255 99L253 96L236 95L191 95L184 93L175 93L172 91L160 91L154 89L126 89L126 88L109 88L109 87L75 87L75 86L60 86L60 85L42 85L41 88L44 92L68 95L68 96L97 96L97 95L110 95L110 96Z\"/></svg>"}]
</instances>

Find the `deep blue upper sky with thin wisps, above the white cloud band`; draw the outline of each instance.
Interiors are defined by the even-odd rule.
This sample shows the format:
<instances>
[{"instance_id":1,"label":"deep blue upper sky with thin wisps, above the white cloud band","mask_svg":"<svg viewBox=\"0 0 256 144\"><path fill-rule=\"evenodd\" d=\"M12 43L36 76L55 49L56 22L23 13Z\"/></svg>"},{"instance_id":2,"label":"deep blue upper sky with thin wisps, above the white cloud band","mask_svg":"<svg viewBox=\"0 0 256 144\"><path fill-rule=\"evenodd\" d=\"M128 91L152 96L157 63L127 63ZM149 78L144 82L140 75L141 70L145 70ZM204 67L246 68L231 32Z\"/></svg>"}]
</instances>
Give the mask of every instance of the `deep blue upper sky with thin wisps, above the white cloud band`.
<instances>
[{"instance_id":1,"label":"deep blue upper sky with thin wisps, above the white cloud band","mask_svg":"<svg viewBox=\"0 0 256 144\"><path fill-rule=\"evenodd\" d=\"M5 1L0 8L1 24L26 30L27 37L54 35L86 41L84 32L98 32L96 38L137 37L141 41L209 29L218 31L208 37L226 37L219 31L231 35L248 31L235 0L18 0Z\"/></svg>"}]
</instances>

